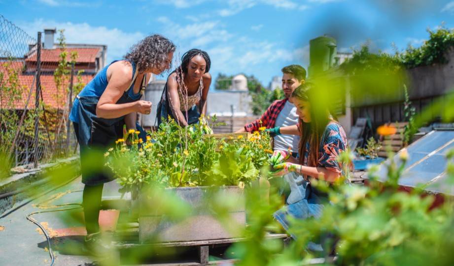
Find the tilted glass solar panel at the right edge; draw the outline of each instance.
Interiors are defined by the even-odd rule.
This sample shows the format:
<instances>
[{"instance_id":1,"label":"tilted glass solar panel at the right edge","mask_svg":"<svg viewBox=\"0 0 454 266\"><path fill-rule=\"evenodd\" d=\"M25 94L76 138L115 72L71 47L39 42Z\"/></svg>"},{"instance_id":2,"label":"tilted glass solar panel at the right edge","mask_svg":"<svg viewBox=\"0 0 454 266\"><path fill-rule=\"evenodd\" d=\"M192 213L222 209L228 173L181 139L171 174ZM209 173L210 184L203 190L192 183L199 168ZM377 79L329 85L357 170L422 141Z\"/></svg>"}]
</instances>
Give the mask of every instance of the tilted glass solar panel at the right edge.
<instances>
[{"instance_id":1,"label":"tilted glass solar panel at the right edge","mask_svg":"<svg viewBox=\"0 0 454 266\"><path fill-rule=\"evenodd\" d=\"M399 185L416 187L430 183L427 190L454 195L454 186L445 170L446 153L454 148L454 131L432 131L407 147L408 161L399 180ZM381 180L387 176L386 165L393 160L400 165L400 153L386 160L379 169Z\"/></svg>"}]
</instances>

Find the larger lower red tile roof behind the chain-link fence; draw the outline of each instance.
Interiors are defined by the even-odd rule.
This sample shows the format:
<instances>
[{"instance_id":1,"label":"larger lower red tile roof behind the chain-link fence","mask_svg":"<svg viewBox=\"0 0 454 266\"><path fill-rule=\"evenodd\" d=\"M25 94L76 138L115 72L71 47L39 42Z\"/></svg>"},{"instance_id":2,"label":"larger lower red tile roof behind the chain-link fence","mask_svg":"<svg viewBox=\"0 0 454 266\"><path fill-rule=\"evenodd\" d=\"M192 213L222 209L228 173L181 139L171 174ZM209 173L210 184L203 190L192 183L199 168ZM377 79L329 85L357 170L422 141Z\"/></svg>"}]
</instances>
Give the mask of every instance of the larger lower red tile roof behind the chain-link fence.
<instances>
[{"instance_id":1,"label":"larger lower red tile roof behind the chain-link fence","mask_svg":"<svg viewBox=\"0 0 454 266\"><path fill-rule=\"evenodd\" d=\"M10 102L10 97L12 95L4 95L4 91L0 91L0 109L25 109L27 105L27 109L34 109L35 108L35 75L34 73L31 74L24 74L22 73L22 67L24 62L23 61L0 61L0 72L3 73L3 81L0 80L0 83L3 85L8 86L9 74L8 70L15 70L18 80L18 88L16 95L19 94L18 97L15 97L12 103ZM84 84L89 83L93 79L94 75L82 75L82 82ZM40 76L41 81L41 90L42 90L42 97L45 104L46 109L63 109L66 106L67 97L68 97L68 84L69 78L66 80L60 89L57 89L54 81L53 74L41 74ZM27 100L29 98L30 89L32 88L32 93L30 95L29 102L27 104ZM74 97L75 95L73 95Z\"/></svg>"}]
</instances>

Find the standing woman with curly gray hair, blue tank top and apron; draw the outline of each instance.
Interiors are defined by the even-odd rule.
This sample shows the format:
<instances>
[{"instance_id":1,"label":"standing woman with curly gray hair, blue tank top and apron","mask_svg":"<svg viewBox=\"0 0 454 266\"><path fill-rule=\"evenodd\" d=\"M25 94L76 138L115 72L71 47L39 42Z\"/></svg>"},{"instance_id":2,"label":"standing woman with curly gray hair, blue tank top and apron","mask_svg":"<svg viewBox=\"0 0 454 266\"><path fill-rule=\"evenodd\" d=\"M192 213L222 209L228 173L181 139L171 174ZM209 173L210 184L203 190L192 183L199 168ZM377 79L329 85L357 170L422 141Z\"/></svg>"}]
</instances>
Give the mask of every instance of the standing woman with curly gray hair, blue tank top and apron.
<instances>
[{"instance_id":1,"label":"standing woman with curly gray hair, blue tank top and apron","mask_svg":"<svg viewBox=\"0 0 454 266\"><path fill-rule=\"evenodd\" d=\"M103 251L99 238L99 212L105 182L113 176L104 169L103 153L121 134L123 124L136 129L137 113L149 115L151 102L141 100L151 74L171 67L175 45L151 35L132 47L123 60L105 66L74 100L70 120L80 145L83 208L88 252ZM120 132L118 132L120 131ZM101 155L100 155L101 154Z\"/></svg>"}]
</instances>

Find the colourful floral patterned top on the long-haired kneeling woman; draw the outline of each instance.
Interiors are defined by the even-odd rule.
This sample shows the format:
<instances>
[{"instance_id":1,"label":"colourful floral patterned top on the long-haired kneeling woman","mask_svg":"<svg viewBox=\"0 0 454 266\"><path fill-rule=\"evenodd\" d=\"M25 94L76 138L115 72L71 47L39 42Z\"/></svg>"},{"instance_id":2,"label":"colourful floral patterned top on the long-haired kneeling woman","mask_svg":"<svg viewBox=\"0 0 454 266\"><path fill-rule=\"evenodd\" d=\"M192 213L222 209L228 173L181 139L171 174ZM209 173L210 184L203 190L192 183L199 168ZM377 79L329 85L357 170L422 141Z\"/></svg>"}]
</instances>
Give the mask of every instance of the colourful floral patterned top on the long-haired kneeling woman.
<instances>
[{"instance_id":1,"label":"colourful floral patterned top on the long-haired kneeling woman","mask_svg":"<svg viewBox=\"0 0 454 266\"><path fill-rule=\"evenodd\" d=\"M347 135L344 128L337 122L330 122L323 132L320 147L318 149L317 167L324 167L337 173L342 172L342 165L337 161L337 157L348 148ZM304 165L307 165L309 156L309 142L306 144L304 154Z\"/></svg>"}]
</instances>

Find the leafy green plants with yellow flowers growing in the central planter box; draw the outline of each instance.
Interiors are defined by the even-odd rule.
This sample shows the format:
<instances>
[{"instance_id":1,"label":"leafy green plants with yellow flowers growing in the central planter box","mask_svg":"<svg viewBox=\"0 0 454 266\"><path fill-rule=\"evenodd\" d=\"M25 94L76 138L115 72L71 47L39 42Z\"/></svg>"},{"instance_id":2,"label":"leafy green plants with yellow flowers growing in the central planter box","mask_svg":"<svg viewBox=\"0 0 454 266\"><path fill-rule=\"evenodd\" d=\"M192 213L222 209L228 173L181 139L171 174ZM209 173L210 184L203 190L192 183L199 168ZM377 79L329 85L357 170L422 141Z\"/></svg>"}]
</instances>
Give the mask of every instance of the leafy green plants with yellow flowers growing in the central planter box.
<instances>
[{"instance_id":1,"label":"leafy green plants with yellow flowers growing in the central planter box","mask_svg":"<svg viewBox=\"0 0 454 266\"><path fill-rule=\"evenodd\" d=\"M204 133L206 124L204 118L200 120L186 128L170 120L149 133L145 143L132 130L105 153L106 165L126 189L150 183L164 187L239 185L259 176L270 149L267 134L216 139Z\"/></svg>"}]
</instances>

